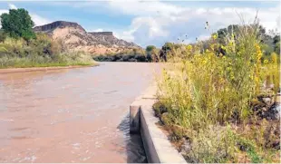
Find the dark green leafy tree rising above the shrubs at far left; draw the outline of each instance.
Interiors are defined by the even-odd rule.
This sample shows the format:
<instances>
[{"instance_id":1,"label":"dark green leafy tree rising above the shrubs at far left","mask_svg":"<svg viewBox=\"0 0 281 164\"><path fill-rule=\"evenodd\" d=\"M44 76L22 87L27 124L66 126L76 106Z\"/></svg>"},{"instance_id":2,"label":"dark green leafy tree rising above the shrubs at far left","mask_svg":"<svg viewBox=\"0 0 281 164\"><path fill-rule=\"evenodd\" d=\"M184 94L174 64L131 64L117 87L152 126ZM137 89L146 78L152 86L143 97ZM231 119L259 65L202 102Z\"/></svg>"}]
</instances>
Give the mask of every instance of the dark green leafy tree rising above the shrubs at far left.
<instances>
[{"instance_id":1,"label":"dark green leafy tree rising above the shrubs at far left","mask_svg":"<svg viewBox=\"0 0 281 164\"><path fill-rule=\"evenodd\" d=\"M2 29L14 38L23 37L30 40L35 37L33 32L34 22L23 8L10 9L9 14L1 14Z\"/></svg>"}]
</instances>

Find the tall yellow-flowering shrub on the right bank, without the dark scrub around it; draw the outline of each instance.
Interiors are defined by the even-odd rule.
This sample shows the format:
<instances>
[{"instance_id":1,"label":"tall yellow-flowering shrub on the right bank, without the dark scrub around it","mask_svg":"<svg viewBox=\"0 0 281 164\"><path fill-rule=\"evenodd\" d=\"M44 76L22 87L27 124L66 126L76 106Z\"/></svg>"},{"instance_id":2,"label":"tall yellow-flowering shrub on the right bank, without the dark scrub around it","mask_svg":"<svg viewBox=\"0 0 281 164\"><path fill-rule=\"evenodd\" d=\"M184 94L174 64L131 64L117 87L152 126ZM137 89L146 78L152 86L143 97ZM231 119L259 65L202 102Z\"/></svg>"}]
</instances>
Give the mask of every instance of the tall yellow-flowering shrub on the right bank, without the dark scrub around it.
<instances>
[{"instance_id":1,"label":"tall yellow-flowering shrub on the right bank, without the dark scrub around it","mask_svg":"<svg viewBox=\"0 0 281 164\"><path fill-rule=\"evenodd\" d=\"M240 138L228 137L235 141L228 143L229 140L225 140L222 144L223 140L219 142L209 137L214 132L210 126L246 125L253 117L250 102L264 92L261 86L268 76L274 83L273 92L279 89L276 54L272 54L270 61L261 62L263 53L257 36L258 24L244 25L239 30L238 36L228 34L224 38L225 44L217 42L218 34L212 34L208 49L202 50L197 43L188 45L184 53L175 53L170 57L174 62L172 69L164 72L163 80L159 82L159 98L167 106L170 122L187 129L187 135L193 140L193 151L187 154L188 159L237 161L235 148ZM218 53L218 48L226 54ZM226 135L224 131L217 132ZM235 131L228 134L239 136ZM223 156L221 151L225 153ZM255 159L257 152L252 150L250 155Z\"/></svg>"}]
</instances>

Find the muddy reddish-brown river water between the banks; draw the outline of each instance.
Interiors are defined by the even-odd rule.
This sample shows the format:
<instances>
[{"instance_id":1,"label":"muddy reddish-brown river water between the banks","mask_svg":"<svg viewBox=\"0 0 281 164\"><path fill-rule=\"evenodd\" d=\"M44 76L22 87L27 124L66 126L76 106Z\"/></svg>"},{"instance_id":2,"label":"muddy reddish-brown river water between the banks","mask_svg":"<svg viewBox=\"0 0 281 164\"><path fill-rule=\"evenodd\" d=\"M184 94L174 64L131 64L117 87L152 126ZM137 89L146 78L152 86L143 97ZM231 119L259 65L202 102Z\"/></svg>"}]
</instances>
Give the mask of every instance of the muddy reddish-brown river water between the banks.
<instances>
[{"instance_id":1,"label":"muddy reddish-brown river water between the banks","mask_svg":"<svg viewBox=\"0 0 281 164\"><path fill-rule=\"evenodd\" d=\"M129 106L157 63L0 72L0 162L146 162Z\"/></svg>"}]
</instances>

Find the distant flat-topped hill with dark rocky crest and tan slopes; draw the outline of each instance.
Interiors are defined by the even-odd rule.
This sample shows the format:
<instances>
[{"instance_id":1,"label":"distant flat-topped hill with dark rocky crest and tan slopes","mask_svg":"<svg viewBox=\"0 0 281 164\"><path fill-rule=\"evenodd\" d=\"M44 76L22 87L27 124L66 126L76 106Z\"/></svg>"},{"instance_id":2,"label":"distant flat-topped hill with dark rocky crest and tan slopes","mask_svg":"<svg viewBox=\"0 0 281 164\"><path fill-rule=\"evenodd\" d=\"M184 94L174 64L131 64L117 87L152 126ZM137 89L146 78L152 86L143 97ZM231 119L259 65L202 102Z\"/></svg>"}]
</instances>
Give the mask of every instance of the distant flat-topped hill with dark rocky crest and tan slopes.
<instances>
[{"instance_id":1,"label":"distant flat-topped hill with dark rocky crest and tan slopes","mask_svg":"<svg viewBox=\"0 0 281 164\"><path fill-rule=\"evenodd\" d=\"M34 32L49 34L53 40L63 42L63 45L69 50L92 54L120 53L134 48L141 49L135 43L116 38L112 32L86 32L80 24L72 22L56 21L36 26Z\"/></svg>"}]
</instances>

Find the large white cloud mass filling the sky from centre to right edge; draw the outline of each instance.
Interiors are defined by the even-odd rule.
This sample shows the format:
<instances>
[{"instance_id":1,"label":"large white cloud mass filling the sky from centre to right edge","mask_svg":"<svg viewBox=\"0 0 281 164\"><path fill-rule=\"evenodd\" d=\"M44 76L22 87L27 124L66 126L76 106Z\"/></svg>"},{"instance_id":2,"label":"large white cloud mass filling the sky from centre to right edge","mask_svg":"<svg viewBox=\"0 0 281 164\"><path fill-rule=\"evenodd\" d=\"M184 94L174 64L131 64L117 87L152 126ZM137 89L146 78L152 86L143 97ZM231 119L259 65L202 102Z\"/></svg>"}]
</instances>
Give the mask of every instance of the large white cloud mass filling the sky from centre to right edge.
<instances>
[{"instance_id":1,"label":"large white cloud mass filling the sky from centre to right edge","mask_svg":"<svg viewBox=\"0 0 281 164\"><path fill-rule=\"evenodd\" d=\"M269 5L268 5L269 4ZM272 3L253 2L165 2L165 1L103 1L65 3L62 6L75 7L87 10L90 14L102 13L118 15L120 19L131 20L131 24L120 25L114 29L111 23L101 28L109 30L124 40L138 43L141 46L165 42L183 43L194 42L195 38L207 39L212 32L229 24L239 24L238 14L244 20L251 22L257 13L255 6L261 6L258 11L260 24L266 29L280 28L279 6ZM279 4L278 4L279 5ZM236 6L236 7L233 7ZM94 10L92 9L94 8ZM205 23L210 24L210 31L204 29ZM122 29L121 29L122 28ZM188 37L186 37L188 35ZM179 40L178 40L179 38Z\"/></svg>"}]
</instances>

